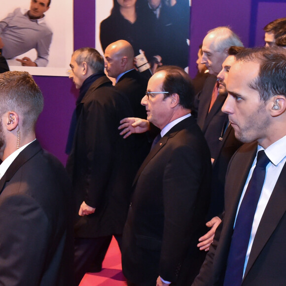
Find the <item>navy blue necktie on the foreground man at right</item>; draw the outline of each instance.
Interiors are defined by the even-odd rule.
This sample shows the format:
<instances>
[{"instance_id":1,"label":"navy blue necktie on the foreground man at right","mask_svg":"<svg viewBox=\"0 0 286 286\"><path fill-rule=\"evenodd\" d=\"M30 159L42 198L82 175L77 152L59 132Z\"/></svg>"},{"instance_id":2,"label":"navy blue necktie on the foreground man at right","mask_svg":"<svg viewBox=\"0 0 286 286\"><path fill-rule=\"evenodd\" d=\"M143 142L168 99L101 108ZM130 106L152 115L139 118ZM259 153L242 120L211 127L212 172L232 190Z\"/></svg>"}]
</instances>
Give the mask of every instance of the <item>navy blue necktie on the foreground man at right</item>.
<instances>
[{"instance_id":1,"label":"navy blue necktie on the foreground man at right","mask_svg":"<svg viewBox=\"0 0 286 286\"><path fill-rule=\"evenodd\" d=\"M241 286L245 258L250 241L254 214L270 162L264 150L257 153L257 162L236 217L228 253L223 286Z\"/></svg>"}]
</instances>

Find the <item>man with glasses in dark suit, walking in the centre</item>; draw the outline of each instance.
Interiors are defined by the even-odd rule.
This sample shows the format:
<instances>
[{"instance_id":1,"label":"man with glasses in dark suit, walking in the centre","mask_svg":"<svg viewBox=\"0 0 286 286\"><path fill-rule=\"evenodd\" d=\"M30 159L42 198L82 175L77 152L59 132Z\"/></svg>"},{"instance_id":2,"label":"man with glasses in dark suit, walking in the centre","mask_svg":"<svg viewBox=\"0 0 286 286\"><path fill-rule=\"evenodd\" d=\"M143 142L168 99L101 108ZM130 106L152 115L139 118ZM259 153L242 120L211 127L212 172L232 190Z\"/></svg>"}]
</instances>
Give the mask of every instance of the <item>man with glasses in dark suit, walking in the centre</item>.
<instances>
[{"instance_id":1,"label":"man with glasses in dark suit, walking in the centre","mask_svg":"<svg viewBox=\"0 0 286 286\"><path fill-rule=\"evenodd\" d=\"M196 240L206 231L211 160L190 115L193 96L189 76L175 67L156 72L142 99L162 138L134 180L122 241L128 285L188 285L204 259Z\"/></svg>"}]
</instances>

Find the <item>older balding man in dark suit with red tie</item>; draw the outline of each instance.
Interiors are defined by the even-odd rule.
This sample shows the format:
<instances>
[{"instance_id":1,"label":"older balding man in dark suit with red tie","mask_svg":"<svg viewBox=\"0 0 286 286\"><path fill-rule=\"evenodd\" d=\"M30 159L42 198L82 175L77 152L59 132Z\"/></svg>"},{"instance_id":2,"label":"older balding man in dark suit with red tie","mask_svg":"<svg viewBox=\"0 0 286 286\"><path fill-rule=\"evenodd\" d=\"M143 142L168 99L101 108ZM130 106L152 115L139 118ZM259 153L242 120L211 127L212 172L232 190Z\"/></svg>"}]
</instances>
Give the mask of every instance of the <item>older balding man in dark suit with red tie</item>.
<instances>
[{"instance_id":1,"label":"older balding man in dark suit with red tie","mask_svg":"<svg viewBox=\"0 0 286 286\"><path fill-rule=\"evenodd\" d=\"M239 37L227 27L217 27L208 32L203 40L202 64L209 70L203 90L195 100L197 109L197 123L202 129L211 150L212 161L217 158L220 149L218 138L227 116L221 111L226 99L225 90L219 92L216 76L221 71L222 63L228 56L230 46L243 46Z\"/></svg>"}]
</instances>

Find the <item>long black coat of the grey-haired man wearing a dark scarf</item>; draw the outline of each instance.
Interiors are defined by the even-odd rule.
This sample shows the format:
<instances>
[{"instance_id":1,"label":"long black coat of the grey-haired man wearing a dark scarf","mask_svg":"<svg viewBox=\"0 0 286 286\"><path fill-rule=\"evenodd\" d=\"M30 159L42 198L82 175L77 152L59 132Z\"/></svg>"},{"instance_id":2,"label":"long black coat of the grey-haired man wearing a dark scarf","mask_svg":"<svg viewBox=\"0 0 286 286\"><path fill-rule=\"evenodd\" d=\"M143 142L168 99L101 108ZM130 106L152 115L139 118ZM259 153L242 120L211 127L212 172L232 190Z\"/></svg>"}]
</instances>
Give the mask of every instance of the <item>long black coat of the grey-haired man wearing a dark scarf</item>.
<instances>
[{"instance_id":1,"label":"long black coat of the grey-haired man wearing a dark scarf","mask_svg":"<svg viewBox=\"0 0 286 286\"><path fill-rule=\"evenodd\" d=\"M137 171L134 139L123 139L118 130L119 121L133 115L130 103L104 75L92 83L76 112L67 162L76 198L75 236L121 234ZM94 214L78 215L83 201L96 208Z\"/></svg>"}]
</instances>

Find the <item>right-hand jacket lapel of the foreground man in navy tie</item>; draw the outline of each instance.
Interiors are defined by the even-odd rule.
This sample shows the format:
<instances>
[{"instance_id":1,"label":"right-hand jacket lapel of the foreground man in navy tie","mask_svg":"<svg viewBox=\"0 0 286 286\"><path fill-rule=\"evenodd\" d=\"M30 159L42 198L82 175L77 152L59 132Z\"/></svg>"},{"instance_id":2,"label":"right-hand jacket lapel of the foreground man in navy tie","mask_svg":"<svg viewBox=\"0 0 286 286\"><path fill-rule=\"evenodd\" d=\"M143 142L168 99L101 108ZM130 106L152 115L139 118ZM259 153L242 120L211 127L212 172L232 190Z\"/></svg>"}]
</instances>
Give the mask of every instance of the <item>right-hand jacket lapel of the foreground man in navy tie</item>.
<instances>
[{"instance_id":1,"label":"right-hand jacket lapel of the foreground man in navy tie","mask_svg":"<svg viewBox=\"0 0 286 286\"><path fill-rule=\"evenodd\" d=\"M253 263L261 250L266 245L272 233L275 231L279 221L286 212L286 164L284 165L277 183L273 189L265 211L256 231L253 245L250 251L245 276L249 273Z\"/></svg>"}]
</instances>

